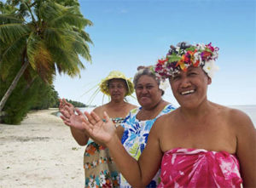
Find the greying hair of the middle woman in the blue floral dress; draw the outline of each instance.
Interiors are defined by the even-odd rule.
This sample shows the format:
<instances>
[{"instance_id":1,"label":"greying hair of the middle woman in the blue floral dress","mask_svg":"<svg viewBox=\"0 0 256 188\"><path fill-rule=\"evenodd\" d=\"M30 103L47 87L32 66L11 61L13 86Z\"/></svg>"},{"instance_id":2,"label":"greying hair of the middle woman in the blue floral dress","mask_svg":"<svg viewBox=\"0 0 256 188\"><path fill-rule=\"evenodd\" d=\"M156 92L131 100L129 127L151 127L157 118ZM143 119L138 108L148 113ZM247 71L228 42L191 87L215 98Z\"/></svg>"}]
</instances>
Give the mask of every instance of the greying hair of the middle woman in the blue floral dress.
<instances>
[{"instance_id":1,"label":"greying hair of the middle woman in the blue floral dress","mask_svg":"<svg viewBox=\"0 0 256 188\"><path fill-rule=\"evenodd\" d=\"M136 89L137 87L137 81L140 77L142 77L143 75L146 75L148 77L153 77L154 80L156 81L157 85L160 86L160 79L158 77L155 77L154 72L151 71L148 67L143 67L143 66L139 66L137 68L137 73L135 74L135 76L133 77L133 85L134 88ZM165 91L160 89L162 92L162 96L165 94Z\"/></svg>"}]
</instances>

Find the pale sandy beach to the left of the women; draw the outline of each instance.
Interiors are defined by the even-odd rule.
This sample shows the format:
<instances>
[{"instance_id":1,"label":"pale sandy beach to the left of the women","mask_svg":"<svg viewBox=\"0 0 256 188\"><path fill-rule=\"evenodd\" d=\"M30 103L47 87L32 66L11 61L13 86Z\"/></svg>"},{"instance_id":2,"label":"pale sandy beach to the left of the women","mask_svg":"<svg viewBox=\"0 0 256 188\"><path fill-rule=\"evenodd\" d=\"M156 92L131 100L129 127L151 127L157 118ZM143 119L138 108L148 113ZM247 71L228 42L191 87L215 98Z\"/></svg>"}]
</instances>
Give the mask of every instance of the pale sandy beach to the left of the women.
<instances>
[{"instance_id":1,"label":"pale sandy beach to the left of the women","mask_svg":"<svg viewBox=\"0 0 256 188\"><path fill-rule=\"evenodd\" d=\"M55 109L32 111L21 125L0 124L0 187L84 187L84 146Z\"/></svg>"}]
</instances>

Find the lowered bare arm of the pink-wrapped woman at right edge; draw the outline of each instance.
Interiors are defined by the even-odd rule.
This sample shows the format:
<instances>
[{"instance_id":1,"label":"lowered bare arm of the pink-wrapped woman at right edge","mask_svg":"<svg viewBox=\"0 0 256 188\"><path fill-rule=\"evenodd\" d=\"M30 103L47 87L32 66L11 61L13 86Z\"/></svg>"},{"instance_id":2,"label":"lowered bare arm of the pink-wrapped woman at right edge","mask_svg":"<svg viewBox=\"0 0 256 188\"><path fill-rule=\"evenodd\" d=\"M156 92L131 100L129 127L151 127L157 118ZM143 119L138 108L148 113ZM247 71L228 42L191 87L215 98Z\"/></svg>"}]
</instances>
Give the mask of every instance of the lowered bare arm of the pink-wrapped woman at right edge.
<instances>
[{"instance_id":1,"label":"lowered bare arm of the pink-wrapped woman at right edge","mask_svg":"<svg viewBox=\"0 0 256 188\"><path fill-rule=\"evenodd\" d=\"M243 187L256 187L256 130L251 119L241 111L233 111L236 123L236 155L241 165Z\"/></svg>"}]
</instances>

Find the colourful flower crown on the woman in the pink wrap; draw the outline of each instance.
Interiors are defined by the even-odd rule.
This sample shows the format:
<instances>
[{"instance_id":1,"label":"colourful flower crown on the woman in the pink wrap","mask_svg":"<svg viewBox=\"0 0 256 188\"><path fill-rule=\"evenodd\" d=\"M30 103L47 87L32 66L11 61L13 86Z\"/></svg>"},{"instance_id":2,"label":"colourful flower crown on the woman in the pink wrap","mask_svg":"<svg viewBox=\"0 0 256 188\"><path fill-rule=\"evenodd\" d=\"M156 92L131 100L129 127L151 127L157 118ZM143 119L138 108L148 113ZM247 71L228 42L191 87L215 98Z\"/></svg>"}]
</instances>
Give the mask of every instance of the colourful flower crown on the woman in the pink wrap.
<instances>
[{"instance_id":1,"label":"colourful flower crown on the woman in the pink wrap","mask_svg":"<svg viewBox=\"0 0 256 188\"><path fill-rule=\"evenodd\" d=\"M218 47L212 47L212 43L190 45L183 42L178 43L177 47L171 46L166 58L158 60L153 71L156 77L166 79L180 71L187 71L189 66L201 66L208 77L212 78L214 71L218 70L214 62L217 59Z\"/></svg>"}]
</instances>

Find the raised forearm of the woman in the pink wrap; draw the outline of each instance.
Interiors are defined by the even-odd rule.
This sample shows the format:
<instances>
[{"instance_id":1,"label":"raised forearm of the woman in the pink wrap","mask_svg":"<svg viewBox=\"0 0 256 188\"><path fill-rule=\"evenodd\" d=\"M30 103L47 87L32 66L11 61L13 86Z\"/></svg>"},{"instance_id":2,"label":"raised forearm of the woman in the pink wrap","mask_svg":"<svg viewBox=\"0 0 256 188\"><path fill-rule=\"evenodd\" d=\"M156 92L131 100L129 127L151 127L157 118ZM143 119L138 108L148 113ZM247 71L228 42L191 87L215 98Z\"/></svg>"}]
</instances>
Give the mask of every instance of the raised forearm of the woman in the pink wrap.
<instances>
[{"instance_id":1,"label":"raised forearm of the woman in the pink wrap","mask_svg":"<svg viewBox=\"0 0 256 188\"><path fill-rule=\"evenodd\" d=\"M113 157L113 161L119 168L119 172L123 174L125 179L133 187L144 187L149 182L143 182L143 175L137 160L125 151L125 147L121 144L117 135L107 144L108 149Z\"/></svg>"}]
</instances>

